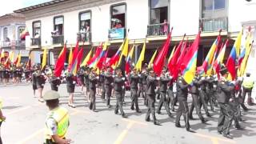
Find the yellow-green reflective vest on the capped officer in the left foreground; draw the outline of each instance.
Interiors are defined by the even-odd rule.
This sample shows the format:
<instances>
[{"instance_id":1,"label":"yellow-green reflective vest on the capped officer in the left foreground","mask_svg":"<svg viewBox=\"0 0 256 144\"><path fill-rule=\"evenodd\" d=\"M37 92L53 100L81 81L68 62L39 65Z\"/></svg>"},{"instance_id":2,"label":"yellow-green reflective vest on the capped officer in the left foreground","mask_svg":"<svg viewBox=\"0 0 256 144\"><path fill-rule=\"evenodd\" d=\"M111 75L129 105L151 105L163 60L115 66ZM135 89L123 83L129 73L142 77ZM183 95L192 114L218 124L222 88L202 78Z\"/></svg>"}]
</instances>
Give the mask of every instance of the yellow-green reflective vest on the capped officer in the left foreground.
<instances>
[{"instance_id":1,"label":"yellow-green reflective vest on the capped officer in the left foreground","mask_svg":"<svg viewBox=\"0 0 256 144\"><path fill-rule=\"evenodd\" d=\"M58 107L57 109L51 110L50 113L48 114L47 119L48 118L54 118L55 122L57 122L58 137L65 138L66 131L69 126L69 115L66 108ZM48 128L46 128L46 139L52 139L51 135L49 134Z\"/></svg>"}]
</instances>

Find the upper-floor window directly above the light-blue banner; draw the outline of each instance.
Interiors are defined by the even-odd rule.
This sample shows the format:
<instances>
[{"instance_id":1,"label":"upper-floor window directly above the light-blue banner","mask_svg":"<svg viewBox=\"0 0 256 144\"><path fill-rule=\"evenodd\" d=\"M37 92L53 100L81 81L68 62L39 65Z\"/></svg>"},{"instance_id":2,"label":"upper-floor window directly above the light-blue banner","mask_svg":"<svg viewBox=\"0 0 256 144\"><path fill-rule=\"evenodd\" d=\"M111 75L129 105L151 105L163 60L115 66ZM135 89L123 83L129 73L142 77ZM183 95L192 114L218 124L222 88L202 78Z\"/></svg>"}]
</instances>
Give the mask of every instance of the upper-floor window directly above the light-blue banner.
<instances>
[{"instance_id":1,"label":"upper-floor window directly above the light-blue banner","mask_svg":"<svg viewBox=\"0 0 256 144\"><path fill-rule=\"evenodd\" d=\"M111 29L126 27L126 4L111 6Z\"/></svg>"}]
</instances>

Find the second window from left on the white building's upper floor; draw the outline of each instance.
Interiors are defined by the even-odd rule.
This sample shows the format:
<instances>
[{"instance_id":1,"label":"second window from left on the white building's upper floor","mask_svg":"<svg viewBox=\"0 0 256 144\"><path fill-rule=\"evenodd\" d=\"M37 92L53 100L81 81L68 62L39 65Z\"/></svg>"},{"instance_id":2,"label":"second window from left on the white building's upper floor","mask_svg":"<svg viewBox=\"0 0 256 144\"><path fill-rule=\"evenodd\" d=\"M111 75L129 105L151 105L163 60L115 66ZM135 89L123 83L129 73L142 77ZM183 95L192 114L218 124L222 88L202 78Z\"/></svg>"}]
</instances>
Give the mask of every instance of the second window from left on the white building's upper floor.
<instances>
[{"instance_id":1,"label":"second window from left on the white building's upper floor","mask_svg":"<svg viewBox=\"0 0 256 144\"><path fill-rule=\"evenodd\" d=\"M54 35L63 35L64 28L64 17L59 16L54 18L54 31L52 34Z\"/></svg>"}]
</instances>

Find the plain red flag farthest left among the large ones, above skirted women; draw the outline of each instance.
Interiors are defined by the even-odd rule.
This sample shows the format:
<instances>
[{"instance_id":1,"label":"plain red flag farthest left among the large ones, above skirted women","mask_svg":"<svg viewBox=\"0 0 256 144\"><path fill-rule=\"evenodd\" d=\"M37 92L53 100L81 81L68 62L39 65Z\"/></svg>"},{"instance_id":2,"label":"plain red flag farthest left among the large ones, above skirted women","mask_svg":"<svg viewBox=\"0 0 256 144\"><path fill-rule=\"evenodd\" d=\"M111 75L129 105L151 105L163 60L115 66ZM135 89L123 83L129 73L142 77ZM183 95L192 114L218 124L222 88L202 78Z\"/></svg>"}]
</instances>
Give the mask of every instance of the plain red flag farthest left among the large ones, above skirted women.
<instances>
[{"instance_id":1,"label":"plain red flag farthest left among the large ones, above skirted women","mask_svg":"<svg viewBox=\"0 0 256 144\"><path fill-rule=\"evenodd\" d=\"M66 61L66 44L64 45L61 53L58 55L57 62L54 68L54 75L60 77L64 69L64 62Z\"/></svg>"}]
</instances>

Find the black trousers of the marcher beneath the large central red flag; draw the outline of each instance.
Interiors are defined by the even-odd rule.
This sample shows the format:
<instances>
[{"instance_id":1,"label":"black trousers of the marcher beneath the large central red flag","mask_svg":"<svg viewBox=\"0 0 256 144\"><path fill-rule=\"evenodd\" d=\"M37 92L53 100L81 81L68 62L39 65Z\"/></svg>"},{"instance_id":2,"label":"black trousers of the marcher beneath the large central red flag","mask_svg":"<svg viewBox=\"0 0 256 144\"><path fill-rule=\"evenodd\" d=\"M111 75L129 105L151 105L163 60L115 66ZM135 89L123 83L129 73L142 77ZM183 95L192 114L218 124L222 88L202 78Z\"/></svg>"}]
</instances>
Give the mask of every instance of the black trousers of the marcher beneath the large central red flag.
<instances>
[{"instance_id":1,"label":"black trousers of the marcher beneath the large central red flag","mask_svg":"<svg viewBox=\"0 0 256 144\"><path fill-rule=\"evenodd\" d=\"M147 106L147 112L146 112L146 121L150 120L150 114L152 115L153 121L156 122L157 118L155 118L155 94L147 94L147 100L148 100L148 106Z\"/></svg>"}]
</instances>

